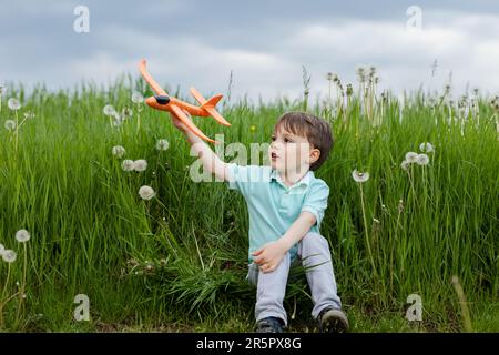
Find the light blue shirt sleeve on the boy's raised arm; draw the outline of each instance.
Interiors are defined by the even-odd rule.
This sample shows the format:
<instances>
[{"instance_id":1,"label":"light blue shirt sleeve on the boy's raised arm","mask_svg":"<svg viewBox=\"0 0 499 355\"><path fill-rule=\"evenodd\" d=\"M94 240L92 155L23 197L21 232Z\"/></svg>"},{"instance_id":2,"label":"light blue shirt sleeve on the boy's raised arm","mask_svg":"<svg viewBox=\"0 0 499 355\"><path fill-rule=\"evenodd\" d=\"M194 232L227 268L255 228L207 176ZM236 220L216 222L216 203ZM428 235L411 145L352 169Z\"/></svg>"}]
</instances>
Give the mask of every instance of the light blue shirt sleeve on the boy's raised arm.
<instances>
[{"instance_id":1,"label":"light blue shirt sleeve on the boy's raised arm","mask_svg":"<svg viewBox=\"0 0 499 355\"><path fill-rule=\"evenodd\" d=\"M258 183L266 181L264 169L259 165L238 165L230 163L227 169L228 189L237 190L244 196L251 194Z\"/></svg>"}]
</instances>

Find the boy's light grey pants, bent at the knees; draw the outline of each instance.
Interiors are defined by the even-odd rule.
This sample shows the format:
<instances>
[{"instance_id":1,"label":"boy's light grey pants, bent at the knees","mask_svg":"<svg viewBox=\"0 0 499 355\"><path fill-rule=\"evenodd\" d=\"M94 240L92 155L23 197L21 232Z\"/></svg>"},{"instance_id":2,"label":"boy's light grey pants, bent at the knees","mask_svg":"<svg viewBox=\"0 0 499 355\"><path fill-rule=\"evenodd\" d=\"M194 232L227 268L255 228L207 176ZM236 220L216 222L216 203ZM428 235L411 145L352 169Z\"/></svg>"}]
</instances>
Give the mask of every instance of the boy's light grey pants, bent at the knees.
<instances>
[{"instance_id":1,"label":"boy's light grey pants, bent at the knees","mask_svg":"<svg viewBox=\"0 0 499 355\"><path fill-rule=\"evenodd\" d=\"M298 243L298 258L305 266L306 277L312 291L314 308L312 316L318 317L326 306L342 307L342 301L336 294L336 280L330 261L329 245L324 236L309 232ZM263 273L255 263L249 264L246 278L257 287L255 320L278 317L287 326L287 315L283 306L286 293L287 276L291 266L291 255L286 253L276 270Z\"/></svg>"}]
</instances>

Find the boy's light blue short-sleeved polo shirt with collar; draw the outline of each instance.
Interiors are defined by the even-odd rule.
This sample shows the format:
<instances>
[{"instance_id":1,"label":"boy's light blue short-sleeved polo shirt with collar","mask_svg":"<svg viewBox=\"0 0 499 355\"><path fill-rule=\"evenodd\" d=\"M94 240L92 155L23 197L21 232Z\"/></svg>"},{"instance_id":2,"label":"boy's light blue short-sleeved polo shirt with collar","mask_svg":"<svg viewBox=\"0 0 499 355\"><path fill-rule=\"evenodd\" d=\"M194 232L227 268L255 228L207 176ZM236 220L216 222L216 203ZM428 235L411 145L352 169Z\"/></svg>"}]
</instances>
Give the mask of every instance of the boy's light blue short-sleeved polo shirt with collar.
<instances>
[{"instance_id":1,"label":"boy's light blue short-sleeved polo shirt with collar","mask_svg":"<svg viewBox=\"0 0 499 355\"><path fill-rule=\"evenodd\" d=\"M282 237L302 211L313 213L317 220L310 227L319 233L327 209L329 187L308 171L293 186L286 186L279 173L271 166L228 164L228 189L237 190L246 200L249 213L249 263L252 253L268 242ZM289 254L296 257L295 244Z\"/></svg>"}]
</instances>

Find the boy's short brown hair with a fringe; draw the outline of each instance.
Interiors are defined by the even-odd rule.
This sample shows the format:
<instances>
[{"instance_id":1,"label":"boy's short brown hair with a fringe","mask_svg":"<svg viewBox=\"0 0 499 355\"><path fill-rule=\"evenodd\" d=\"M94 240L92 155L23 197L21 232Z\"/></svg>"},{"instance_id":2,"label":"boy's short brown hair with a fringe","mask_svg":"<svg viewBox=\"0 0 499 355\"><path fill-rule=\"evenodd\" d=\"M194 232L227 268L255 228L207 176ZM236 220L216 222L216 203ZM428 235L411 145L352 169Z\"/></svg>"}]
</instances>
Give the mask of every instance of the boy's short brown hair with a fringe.
<instances>
[{"instance_id":1,"label":"boy's short brown hair with a fringe","mask_svg":"<svg viewBox=\"0 0 499 355\"><path fill-rule=\"evenodd\" d=\"M310 165L310 170L319 169L334 145L334 136L329 123L308 113L287 112L279 118L274 131L281 131L282 129L306 138L315 149L320 151L319 159Z\"/></svg>"}]
</instances>

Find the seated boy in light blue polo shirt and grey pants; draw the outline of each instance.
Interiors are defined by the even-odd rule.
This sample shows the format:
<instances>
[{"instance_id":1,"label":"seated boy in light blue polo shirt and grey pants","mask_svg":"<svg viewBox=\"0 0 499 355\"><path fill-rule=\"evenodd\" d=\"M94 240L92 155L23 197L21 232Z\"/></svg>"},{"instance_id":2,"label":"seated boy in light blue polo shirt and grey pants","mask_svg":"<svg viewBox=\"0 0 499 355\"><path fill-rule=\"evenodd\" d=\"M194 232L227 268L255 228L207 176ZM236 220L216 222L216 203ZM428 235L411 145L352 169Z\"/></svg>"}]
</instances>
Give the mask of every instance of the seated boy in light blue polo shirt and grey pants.
<instances>
[{"instance_id":1,"label":"seated boy in light blue polo shirt and grey pants","mask_svg":"<svg viewBox=\"0 0 499 355\"><path fill-rule=\"evenodd\" d=\"M187 118L189 113L186 112ZM333 146L330 126L310 114L289 112L274 128L268 150L271 166L225 163L200 138L172 115L205 171L228 182L246 200L249 212L247 280L257 287L257 332L282 333L287 326L283 307L289 266L301 260L306 268L314 310L322 332L345 332L327 241L319 225L329 187L314 176Z\"/></svg>"}]
</instances>

